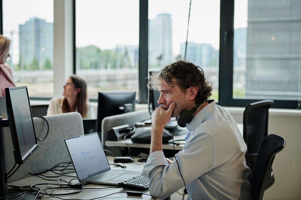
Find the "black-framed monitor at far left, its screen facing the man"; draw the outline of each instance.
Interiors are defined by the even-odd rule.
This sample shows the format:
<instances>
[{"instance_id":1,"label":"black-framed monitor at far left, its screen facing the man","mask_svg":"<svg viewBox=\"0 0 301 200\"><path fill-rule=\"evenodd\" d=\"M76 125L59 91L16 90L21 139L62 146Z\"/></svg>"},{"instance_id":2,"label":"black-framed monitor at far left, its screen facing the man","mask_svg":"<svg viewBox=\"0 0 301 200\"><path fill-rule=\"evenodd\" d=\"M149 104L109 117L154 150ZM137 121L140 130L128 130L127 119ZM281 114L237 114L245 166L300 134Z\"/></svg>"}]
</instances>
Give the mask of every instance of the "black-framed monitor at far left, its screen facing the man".
<instances>
[{"instance_id":1,"label":"black-framed monitor at far left, its screen facing the man","mask_svg":"<svg viewBox=\"0 0 301 200\"><path fill-rule=\"evenodd\" d=\"M5 94L14 157L20 165L38 148L27 86L5 88Z\"/></svg>"}]
</instances>

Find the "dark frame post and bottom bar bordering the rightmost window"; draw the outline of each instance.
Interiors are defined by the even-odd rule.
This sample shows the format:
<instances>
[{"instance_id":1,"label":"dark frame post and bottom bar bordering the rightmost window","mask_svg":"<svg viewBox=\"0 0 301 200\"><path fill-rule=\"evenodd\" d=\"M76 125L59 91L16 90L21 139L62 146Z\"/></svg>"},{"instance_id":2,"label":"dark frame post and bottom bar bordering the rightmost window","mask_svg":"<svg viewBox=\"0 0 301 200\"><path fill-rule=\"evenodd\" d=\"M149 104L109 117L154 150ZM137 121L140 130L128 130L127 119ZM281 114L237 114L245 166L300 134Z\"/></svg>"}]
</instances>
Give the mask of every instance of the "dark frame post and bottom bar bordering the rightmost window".
<instances>
[{"instance_id":1,"label":"dark frame post and bottom bar bordering the rightmost window","mask_svg":"<svg viewBox=\"0 0 301 200\"><path fill-rule=\"evenodd\" d=\"M264 99L233 98L234 0L221 0L219 51L219 102L221 106L246 107ZM225 32L227 34L225 35ZM274 100L274 99L272 99ZM271 108L296 109L296 100L274 100Z\"/></svg>"}]
</instances>

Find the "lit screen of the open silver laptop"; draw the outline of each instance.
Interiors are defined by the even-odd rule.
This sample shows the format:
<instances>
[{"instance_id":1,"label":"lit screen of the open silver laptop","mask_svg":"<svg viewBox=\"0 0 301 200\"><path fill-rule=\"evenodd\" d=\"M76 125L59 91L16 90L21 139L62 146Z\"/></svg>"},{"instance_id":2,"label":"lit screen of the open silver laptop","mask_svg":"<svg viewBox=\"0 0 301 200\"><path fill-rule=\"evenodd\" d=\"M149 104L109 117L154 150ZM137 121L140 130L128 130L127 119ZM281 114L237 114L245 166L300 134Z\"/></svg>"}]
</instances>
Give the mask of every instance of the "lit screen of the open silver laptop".
<instances>
[{"instance_id":1,"label":"lit screen of the open silver laptop","mask_svg":"<svg viewBox=\"0 0 301 200\"><path fill-rule=\"evenodd\" d=\"M97 133L65 139L79 180L110 170Z\"/></svg>"}]
</instances>

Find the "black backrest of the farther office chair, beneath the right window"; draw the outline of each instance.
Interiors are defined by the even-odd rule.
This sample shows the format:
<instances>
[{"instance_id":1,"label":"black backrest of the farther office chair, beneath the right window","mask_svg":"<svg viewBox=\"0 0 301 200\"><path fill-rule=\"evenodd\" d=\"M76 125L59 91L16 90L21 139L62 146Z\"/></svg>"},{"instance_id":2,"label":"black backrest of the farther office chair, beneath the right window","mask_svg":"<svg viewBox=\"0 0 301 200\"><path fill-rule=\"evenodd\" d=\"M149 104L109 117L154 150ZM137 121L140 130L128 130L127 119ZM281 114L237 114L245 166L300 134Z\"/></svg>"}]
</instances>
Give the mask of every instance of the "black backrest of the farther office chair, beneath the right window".
<instances>
[{"instance_id":1,"label":"black backrest of the farther office chair, beneath the right window","mask_svg":"<svg viewBox=\"0 0 301 200\"><path fill-rule=\"evenodd\" d=\"M243 119L246 155L257 153L260 142L268 135L268 109L273 103L273 100L264 100L246 107Z\"/></svg>"}]
</instances>

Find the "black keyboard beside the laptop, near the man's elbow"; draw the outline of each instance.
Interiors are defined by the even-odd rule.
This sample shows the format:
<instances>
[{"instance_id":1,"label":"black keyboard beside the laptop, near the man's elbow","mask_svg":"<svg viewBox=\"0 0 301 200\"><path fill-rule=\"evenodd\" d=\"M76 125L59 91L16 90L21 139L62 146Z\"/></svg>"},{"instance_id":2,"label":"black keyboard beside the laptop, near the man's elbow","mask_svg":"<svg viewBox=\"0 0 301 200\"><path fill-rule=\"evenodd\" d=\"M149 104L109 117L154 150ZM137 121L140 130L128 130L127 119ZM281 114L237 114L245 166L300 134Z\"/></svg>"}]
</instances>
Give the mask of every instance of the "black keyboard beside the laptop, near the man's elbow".
<instances>
[{"instance_id":1,"label":"black keyboard beside the laptop, near the man's elbow","mask_svg":"<svg viewBox=\"0 0 301 200\"><path fill-rule=\"evenodd\" d=\"M128 189L146 190L148 189L148 178L142 175L138 175L128 180L121 181L118 185Z\"/></svg>"}]
</instances>

